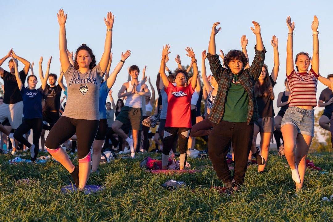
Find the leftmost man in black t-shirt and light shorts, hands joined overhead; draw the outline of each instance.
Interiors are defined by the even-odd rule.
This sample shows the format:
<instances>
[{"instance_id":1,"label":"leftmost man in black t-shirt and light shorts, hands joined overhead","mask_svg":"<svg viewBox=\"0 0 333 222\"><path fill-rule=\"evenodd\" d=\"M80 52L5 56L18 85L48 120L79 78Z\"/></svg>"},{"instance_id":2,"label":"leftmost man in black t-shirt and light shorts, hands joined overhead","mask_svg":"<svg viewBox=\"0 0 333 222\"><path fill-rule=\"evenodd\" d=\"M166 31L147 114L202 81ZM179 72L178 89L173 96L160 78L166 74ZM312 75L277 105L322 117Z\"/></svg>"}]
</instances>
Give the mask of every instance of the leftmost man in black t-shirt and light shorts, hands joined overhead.
<instances>
[{"instance_id":1,"label":"leftmost man in black t-shirt and light shorts, hands joined overhead","mask_svg":"<svg viewBox=\"0 0 333 222\"><path fill-rule=\"evenodd\" d=\"M8 54L0 60L0 66L11 56L14 59L19 60L23 63L24 68L21 72L19 72L22 83L25 82L27 74L29 72L30 63L17 56L13 49L11 49ZM22 123L22 115L23 115L23 102L20 90L17 85L16 77L15 77L15 67L14 61L11 59L8 62L8 67L10 72L2 69L0 67L0 76L3 80L4 85L4 103L0 105L0 122L5 121L8 118L9 123L11 125L11 133L14 133L15 129ZM12 135L12 134L11 134ZM10 136L12 137L12 136ZM12 154L16 153L18 142L16 142L15 148L13 148Z\"/></svg>"}]
</instances>

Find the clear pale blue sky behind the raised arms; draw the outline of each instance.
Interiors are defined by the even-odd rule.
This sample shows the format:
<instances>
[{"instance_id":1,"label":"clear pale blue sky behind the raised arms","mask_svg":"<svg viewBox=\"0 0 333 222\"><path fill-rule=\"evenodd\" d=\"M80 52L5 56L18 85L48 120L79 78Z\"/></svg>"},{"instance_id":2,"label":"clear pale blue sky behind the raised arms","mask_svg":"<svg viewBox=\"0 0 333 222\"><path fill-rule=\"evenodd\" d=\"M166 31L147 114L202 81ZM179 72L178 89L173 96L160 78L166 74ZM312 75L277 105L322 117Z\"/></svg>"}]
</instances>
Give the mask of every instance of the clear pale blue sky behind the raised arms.
<instances>
[{"instance_id":1,"label":"clear pale blue sky behind the raised arms","mask_svg":"<svg viewBox=\"0 0 333 222\"><path fill-rule=\"evenodd\" d=\"M251 3L252 2L252 3ZM255 3L254 3L255 2ZM38 61L44 57L43 68L53 56L51 72L59 74L59 24L57 12L60 8L67 13L68 49L86 43L93 49L97 61L104 49L106 26L103 17L108 11L115 15L113 27L113 64L111 71L120 60L122 51L130 49L132 55L118 75L113 86L113 96L127 80L127 66L136 64L141 70L147 65L146 74L155 83L164 44L170 44L171 55L167 66L176 68L174 57L179 54L182 64L190 60L185 56L185 47L193 48L201 70L201 52L208 48L212 24L221 22L222 30L216 36L216 47L225 53L230 49L240 49L240 37L249 39L248 54L253 59L255 36L250 30L251 21L259 22L266 47L265 64L269 71L273 67L273 50L270 45L272 35L279 39L280 72L274 93L277 98L284 90L286 40L288 29L286 17L295 21L294 55L300 51L312 54L313 15L319 19L320 73L327 76L332 69L332 1L1 1L0 56L13 47L17 55L35 62L38 75ZM22 68L22 64L19 64ZM8 70L7 62L2 67ZM210 74L208 61L207 74ZM318 83L317 98L324 89ZM275 112L276 102L274 101ZM318 111L321 108L315 108Z\"/></svg>"}]
</instances>

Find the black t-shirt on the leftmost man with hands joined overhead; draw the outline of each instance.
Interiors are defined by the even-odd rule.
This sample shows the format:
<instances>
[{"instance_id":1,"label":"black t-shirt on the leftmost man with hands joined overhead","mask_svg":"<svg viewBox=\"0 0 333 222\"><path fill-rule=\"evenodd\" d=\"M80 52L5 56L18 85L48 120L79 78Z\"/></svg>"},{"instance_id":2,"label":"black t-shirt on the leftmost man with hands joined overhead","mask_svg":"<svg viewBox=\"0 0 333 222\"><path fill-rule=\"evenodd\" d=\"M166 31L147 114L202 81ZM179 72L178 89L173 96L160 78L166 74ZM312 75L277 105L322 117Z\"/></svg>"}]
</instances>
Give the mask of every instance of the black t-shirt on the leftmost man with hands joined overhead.
<instances>
[{"instance_id":1,"label":"black t-shirt on the leftmost man with hands joined overhead","mask_svg":"<svg viewBox=\"0 0 333 222\"><path fill-rule=\"evenodd\" d=\"M21 72L19 72L19 75L22 84L24 85L27 74L25 74L24 71L22 70ZM4 70L1 79L3 79L3 86L5 90L3 102L5 104L14 104L22 101L21 91L19 90L19 86L17 85L15 75Z\"/></svg>"}]
</instances>

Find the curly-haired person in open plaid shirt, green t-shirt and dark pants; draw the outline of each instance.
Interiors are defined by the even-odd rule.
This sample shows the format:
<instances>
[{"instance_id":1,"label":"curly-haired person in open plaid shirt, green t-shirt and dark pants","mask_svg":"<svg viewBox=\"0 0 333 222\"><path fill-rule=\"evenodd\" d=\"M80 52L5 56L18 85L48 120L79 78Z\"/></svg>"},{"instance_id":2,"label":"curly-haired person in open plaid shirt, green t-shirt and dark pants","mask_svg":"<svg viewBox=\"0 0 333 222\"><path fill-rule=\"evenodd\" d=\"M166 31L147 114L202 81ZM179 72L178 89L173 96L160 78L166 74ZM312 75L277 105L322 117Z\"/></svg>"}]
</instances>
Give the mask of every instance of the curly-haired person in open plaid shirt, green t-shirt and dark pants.
<instances>
[{"instance_id":1,"label":"curly-haired person in open plaid shirt, green t-shirt and dark pants","mask_svg":"<svg viewBox=\"0 0 333 222\"><path fill-rule=\"evenodd\" d=\"M230 50L223 59L222 67L216 54L215 35L221 30L213 24L207 58L210 70L218 83L214 105L208 116L215 123L208 136L208 154L219 179L231 190L238 190L244 183L247 169L247 156L251 149L253 122L259 117L254 95L254 84L259 78L265 60L260 26L252 22L251 30L256 36L255 57L251 66L244 69L248 59L239 50ZM228 144L232 142L234 151L234 176L230 174L225 156Z\"/></svg>"}]
</instances>

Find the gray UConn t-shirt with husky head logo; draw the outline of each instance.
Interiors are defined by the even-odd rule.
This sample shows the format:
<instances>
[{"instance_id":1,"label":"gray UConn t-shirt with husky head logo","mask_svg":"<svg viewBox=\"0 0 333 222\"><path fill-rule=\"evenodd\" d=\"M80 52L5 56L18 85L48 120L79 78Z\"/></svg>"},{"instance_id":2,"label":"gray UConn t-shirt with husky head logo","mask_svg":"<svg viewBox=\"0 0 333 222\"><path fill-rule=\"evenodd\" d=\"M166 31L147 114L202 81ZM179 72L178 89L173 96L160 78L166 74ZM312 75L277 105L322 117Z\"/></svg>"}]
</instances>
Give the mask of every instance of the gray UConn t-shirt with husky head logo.
<instances>
[{"instance_id":1,"label":"gray UConn t-shirt with husky head logo","mask_svg":"<svg viewBox=\"0 0 333 222\"><path fill-rule=\"evenodd\" d=\"M100 64L87 73L70 65L64 74L67 83L67 103L64 116L75 119L99 120L99 91L104 73Z\"/></svg>"}]
</instances>

